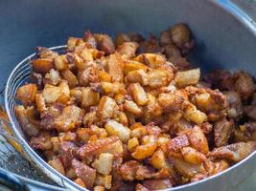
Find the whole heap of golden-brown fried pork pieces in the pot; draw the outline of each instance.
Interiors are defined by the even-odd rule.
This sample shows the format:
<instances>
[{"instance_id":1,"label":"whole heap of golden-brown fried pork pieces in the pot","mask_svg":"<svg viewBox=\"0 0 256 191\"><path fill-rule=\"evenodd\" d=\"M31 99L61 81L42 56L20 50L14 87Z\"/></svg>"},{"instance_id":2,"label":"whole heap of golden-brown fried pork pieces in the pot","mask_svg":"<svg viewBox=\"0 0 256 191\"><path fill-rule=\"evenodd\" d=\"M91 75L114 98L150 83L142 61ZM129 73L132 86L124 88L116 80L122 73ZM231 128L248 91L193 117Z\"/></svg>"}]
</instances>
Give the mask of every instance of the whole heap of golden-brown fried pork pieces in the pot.
<instances>
[{"instance_id":1,"label":"whole heap of golden-brown fried pork pieces in the pot","mask_svg":"<svg viewBox=\"0 0 256 191\"><path fill-rule=\"evenodd\" d=\"M29 143L87 189L148 191L216 175L256 150L253 77L201 77L187 25L159 40L85 32L37 48L15 114Z\"/></svg>"}]
</instances>

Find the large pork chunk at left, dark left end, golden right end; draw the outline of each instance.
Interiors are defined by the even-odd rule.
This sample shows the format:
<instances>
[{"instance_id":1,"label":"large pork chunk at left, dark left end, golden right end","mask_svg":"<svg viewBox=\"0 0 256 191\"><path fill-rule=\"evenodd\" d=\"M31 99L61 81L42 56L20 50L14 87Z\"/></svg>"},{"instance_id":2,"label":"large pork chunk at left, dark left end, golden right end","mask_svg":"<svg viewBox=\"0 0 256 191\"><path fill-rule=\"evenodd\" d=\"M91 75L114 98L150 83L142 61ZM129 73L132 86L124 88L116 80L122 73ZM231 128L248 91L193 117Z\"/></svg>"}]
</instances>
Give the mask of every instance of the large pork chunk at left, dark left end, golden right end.
<instances>
[{"instance_id":1,"label":"large pork chunk at left, dark left end, golden right end","mask_svg":"<svg viewBox=\"0 0 256 191\"><path fill-rule=\"evenodd\" d=\"M83 116L83 111L75 105L64 107L61 104L54 104L42 113L41 125L48 130L68 132L81 125Z\"/></svg>"}]
</instances>

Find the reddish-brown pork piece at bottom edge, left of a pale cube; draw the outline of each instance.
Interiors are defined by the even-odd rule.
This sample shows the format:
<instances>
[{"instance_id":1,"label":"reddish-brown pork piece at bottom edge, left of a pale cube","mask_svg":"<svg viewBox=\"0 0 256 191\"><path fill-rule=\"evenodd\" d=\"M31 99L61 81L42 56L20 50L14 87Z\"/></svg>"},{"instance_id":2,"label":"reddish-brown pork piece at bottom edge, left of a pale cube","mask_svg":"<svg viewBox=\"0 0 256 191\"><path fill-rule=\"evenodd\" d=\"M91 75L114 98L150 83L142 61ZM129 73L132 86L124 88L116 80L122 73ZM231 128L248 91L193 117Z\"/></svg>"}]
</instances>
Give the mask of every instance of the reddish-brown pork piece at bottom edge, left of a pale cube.
<instances>
[{"instance_id":1,"label":"reddish-brown pork piece at bottom edge, left of a pale cube","mask_svg":"<svg viewBox=\"0 0 256 191\"><path fill-rule=\"evenodd\" d=\"M72 159L72 167L75 169L78 178L85 184L85 187L92 188L96 179L96 170L77 159Z\"/></svg>"}]
</instances>

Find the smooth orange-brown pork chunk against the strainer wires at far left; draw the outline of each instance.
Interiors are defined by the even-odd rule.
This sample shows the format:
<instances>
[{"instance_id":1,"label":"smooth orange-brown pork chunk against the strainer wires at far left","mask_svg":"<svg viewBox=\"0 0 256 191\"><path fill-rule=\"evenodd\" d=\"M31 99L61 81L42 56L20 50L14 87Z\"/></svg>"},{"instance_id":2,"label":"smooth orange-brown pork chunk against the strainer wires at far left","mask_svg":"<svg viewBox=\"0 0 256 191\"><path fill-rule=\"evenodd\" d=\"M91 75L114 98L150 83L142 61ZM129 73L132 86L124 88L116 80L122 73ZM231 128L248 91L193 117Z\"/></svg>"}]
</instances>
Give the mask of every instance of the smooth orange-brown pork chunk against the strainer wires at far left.
<instances>
[{"instance_id":1,"label":"smooth orange-brown pork chunk against the strainer wires at far left","mask_svg":"<svg viewBox=\"0 0 256 191\"><path fill-rule=\"evenodd\" d=\"M15 97L19 99L24 106L32 105L35 101L37 86L35 84L26 84L17 89Z\"/></svg>"}]
</instances>

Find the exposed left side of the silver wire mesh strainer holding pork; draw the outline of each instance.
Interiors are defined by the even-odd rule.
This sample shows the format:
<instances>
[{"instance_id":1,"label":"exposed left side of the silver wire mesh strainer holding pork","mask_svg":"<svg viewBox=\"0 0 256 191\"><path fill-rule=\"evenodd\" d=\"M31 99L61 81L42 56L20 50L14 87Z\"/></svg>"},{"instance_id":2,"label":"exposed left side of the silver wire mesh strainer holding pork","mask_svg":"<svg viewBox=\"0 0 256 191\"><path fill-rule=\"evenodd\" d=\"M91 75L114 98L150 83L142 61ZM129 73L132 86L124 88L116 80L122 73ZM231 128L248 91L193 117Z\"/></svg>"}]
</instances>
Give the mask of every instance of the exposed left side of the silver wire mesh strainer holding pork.
<instances>
[{"instance_id":1,"label":"exposed left side of the silver wire mesh strainer holding pork","mask_svg":"<svg viewBox=\"0 0 256 191\"><path fill-rule=\"evenodd\" d=\"M52 47L50 50L54 50L58 53L64 53L66 46ZM43 173L45 173L51 180L55 180L60 186L68 188L71 190L85 190L74 181L67 179L58 173L54 168L49 166L47 162L41 159L35 151L27 143L27 139L22 132L21 125L19 124L17 118L14 114L14 106L17 104L15 99L15 93L18 87L20 87L25 82L30 81L30 74L32 73L31 60L36 57L36 53L26 57L13 69L12 74L10 74L6 89L5 89L5 109L10 118L10 126L12 127L12 132L17 138L18 143L21 145L23 155L28 159L33 165L39 168Z\"/></svg>"}]
</instances>

